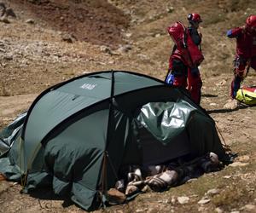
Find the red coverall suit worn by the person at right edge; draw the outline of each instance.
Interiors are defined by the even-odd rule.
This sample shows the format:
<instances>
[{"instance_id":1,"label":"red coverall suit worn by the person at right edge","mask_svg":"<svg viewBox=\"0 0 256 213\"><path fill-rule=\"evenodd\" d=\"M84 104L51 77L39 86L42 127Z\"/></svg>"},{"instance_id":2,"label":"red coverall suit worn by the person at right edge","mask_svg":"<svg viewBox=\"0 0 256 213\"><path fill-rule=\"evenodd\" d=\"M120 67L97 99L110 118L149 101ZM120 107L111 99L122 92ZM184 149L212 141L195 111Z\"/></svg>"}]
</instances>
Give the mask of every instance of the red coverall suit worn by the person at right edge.
<instances>
[{"instance_id":1,"label":"red coverall suit worn by the person at right edge","mask_svg":"<svg viewBox=\"0 0 256 213\"><path fill-rule=\"evenodd\" d=\"M234 78L230 91L230 96L235 99L248 68L252 67L256 70L256 32L248 32L244 27L236 27L227 32L227 37L236 37Z\"/></svg>"}]
</instances>

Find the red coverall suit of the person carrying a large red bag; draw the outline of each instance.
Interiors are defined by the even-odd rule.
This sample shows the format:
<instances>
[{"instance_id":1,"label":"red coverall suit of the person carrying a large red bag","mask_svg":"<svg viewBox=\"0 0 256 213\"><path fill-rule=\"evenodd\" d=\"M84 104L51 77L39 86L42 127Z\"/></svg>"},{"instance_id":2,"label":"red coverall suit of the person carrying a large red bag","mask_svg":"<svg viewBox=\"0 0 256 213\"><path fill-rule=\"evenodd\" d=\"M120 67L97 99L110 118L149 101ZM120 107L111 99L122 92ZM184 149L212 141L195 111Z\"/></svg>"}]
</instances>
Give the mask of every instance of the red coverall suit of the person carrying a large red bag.
<instances>
[{"instance_id":1,"label":"red coverall suit of the person carrying a large red bag","mask_svg":"<svg viewBox=\"0 0 256 213\"><path fill-rule=\"evenodd\" d=\"M199 35L197 30L192 26L189 26L188 30L195 45L200 46L201 35ZM190 67L188 62L183 59L183 55L177 50L176 45L173 47L172 55L169 59L169 71L174 76L173 85L183 88L188 87L193 101L200 104L202 81L198 66L199 65L194 65Z\"/></svg>"}]
</instances>

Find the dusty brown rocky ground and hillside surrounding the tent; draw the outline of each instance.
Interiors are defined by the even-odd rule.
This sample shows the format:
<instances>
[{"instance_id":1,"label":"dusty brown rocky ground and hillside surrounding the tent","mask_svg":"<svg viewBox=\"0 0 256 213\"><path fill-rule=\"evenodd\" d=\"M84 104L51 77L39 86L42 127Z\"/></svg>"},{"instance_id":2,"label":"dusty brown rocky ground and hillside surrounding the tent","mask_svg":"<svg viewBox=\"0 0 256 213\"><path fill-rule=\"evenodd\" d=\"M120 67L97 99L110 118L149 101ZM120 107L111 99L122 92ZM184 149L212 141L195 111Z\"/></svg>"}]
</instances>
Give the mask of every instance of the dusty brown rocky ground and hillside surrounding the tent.
<instances>
[{"instance_id":1,"label":"dusty brown rocky ground and hillside surrounding the tent","mask_svg":"<svg viewBox=\"0 0 256 213\"><path fill-rule=\"evenodd\" d=\"M186 23L190 12L200 13L206 57L201 64L201 106L238 158L219 172L165 193L139 195L105 211L256 212L256 108L223 108L229 99L236 47L225 32L241 26L248 14L256 14L253 0L0 2L16 14L9 23L0 21L0 128L44 89L86 72L116 69L164 79L173 45L166 27L176 20ZM251 70L244 84L255 85L255 79ZM19 184L0 181L0 212L83 212L47 190L30 196L20 189ZM182 202L182 197L189 199Z\"/></svg>"}]
</instances>

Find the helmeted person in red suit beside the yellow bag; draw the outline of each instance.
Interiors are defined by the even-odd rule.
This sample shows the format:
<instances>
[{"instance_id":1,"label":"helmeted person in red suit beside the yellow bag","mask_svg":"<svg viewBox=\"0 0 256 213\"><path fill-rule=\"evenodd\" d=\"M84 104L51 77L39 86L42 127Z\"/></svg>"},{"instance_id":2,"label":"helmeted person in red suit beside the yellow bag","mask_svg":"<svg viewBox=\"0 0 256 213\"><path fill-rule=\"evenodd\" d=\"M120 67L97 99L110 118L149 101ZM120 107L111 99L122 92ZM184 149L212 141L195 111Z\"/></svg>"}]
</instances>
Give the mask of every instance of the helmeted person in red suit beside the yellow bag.
<instances>
[{"instance_id":1,"label":"helmeted person in red suit beside the yellow bag","mask_svg":"<svg viewBox=\"0 0 256 213\"><path fill-rule=\"evenodd\" d=\"M238 107L236 92L241 82L247 77L249 68L256 70L256 15L247 17L246 25L233 28L227 32L227 37L236 38L236 57L234 60L234 78L231 83L231 100L224 108Z\"/></svg>"}]
</instances>

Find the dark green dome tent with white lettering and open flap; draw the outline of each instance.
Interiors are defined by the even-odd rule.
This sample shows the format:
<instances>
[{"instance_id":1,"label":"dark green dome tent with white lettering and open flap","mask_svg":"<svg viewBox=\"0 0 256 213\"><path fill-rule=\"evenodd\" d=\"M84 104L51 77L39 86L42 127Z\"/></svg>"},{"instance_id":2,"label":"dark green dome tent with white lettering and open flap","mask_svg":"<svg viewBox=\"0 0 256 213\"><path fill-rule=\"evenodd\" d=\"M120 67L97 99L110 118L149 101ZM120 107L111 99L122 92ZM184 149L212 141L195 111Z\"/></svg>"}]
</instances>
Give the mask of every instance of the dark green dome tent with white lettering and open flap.
<instances>
[{"instance_id":1,"label":"dark green dome tent with white lettering and open flap","mask_svg":"<svg viewBox=\"0 0 256 213\"><path fill-rule=\"evenodd\" d=\"M94 72L46 89L0 134L0 172L95 210L120 168L207 152L214 121L183 89L135 72Z\"/></svg>"}]
</instances>

